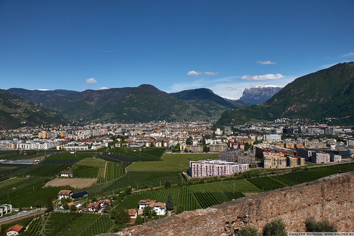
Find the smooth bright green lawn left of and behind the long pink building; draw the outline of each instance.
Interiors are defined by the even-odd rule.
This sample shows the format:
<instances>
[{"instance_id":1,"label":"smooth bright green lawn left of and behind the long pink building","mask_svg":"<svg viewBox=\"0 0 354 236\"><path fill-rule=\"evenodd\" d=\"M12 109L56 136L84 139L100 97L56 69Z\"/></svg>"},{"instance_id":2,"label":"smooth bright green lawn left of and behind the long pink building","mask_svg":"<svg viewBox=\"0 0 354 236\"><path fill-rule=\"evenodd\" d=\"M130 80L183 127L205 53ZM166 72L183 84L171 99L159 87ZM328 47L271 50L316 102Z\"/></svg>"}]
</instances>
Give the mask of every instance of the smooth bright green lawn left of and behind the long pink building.
<instances>
[{"instance_id":1,"label":"smooth bright green lawn left of and behind the long pink building","mask_svg":"<svg viewBox=\"0 0 354 236\"><path fill-rule=\"evenodd\" d=\"M188 158L192 158L189 160ZM162 161L134 162L127 171L187 171L189 161L219 159L218 153L165 154Z\"/></svg>"}]
</instances>

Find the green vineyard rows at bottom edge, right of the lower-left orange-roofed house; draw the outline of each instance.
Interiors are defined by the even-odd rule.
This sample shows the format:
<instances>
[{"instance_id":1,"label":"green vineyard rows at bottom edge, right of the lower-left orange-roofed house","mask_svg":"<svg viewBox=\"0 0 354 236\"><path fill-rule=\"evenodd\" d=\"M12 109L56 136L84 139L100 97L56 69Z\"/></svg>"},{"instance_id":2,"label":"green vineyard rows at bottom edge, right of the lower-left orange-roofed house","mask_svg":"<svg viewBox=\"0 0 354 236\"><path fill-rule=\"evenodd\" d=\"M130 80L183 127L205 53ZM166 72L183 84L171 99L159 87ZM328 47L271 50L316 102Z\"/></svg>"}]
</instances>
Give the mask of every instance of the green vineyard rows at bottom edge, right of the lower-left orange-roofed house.
<instances>
[{"instance_id":1,"label":"green vineyard rows at bottom edge, right of the lower-left orange-roofed house","mask_svg":"<svg viewBox=\"0 0 354 236\"><path fill-rule=\"evenodd\" d=\"M109 215L90 213L50 213L45 232L51 236L92 236L107 232L114 225Z\"/></svg>"}]
</instances>

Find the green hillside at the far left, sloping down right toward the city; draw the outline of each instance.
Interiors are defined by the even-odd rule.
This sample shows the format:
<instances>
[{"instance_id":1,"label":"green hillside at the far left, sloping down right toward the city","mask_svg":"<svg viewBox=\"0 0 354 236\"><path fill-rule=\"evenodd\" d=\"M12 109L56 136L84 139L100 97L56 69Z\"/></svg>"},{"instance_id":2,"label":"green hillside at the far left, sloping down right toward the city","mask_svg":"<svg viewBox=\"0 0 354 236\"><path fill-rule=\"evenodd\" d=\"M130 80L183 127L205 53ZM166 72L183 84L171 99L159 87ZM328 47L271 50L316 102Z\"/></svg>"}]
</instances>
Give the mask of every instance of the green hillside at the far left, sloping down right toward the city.
<instances>
[{"instance_id":1,"label":"green hillside at the far left, sloping down right toward the city","mask_svg":"<svg viewBox=\"0 0 354 236\"><path fill-rule=\"evenodd\" d=\"M55 110L0 90L0 128L41 124L67 124L68 118Z\"/></svg>"}]
</instances>

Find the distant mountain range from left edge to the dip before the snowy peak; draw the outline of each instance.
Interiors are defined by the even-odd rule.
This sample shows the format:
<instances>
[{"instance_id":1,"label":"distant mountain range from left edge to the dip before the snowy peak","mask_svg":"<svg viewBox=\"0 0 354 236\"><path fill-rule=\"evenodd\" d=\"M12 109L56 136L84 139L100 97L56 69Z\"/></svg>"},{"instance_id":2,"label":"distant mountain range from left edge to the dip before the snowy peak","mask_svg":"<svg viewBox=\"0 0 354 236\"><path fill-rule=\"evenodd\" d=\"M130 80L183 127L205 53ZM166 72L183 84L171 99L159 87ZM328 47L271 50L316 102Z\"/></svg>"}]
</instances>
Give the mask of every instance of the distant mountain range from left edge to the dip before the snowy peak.
<instances>
[{"instance_id":1,"label":"distant mountain range from left edge to the dip before the snowy peak","mask_svg":"<svg viewBox=\"0 0 354 236\"><path fill-rule=\"evenodd\" d=\"M2 91L33 106L65 114L72 120L97 122L146 122L152 120L181 121L218 118L225 110L238 109L207 88L166 93L152 85L110 88L106 90L25 90L10 88ZM17 95L17 96L16 96ZM30 101L29 101L30 100ZM1 98L0 98L1 102ZM36 104L35 104L36 103ZM4 111L5 112L5 111ZM64 116L62 116L64 117ZM47 120L39 123L66 123L67 120ZM16 122L5 121L1 128L12 128ZM21 124L21 122L19 122ZM28 123L23 123L25 125ZM33 124L32 122L30 124Z\"/></svg>"}]
</instances>

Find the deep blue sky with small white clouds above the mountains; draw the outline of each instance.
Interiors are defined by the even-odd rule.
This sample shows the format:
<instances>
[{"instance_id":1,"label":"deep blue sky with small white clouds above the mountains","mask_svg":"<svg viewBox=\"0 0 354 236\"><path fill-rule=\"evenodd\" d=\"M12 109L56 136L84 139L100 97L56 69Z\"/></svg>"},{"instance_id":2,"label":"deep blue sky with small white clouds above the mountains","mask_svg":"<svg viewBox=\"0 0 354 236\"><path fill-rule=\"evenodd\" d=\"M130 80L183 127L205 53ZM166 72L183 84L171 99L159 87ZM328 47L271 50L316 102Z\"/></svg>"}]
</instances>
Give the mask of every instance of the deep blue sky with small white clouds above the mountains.
<instances>
[{"instance_id":1,"label":"deep blue sky with small white clouds above the mountains","mask_svg":"<svg viewBox=\"0 0 354 236\"><path fill-rule=\"evenodd\" d=\"M238 99L354 61L353 10L352 0L2 0L1 88L152 84Z\"/></svg>"}]
</instances>

